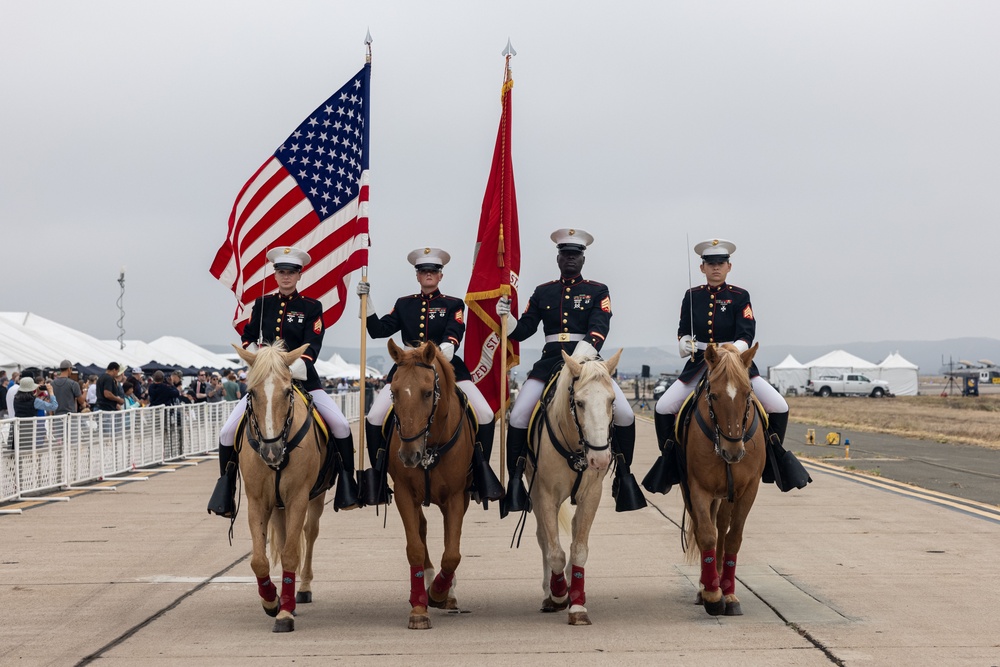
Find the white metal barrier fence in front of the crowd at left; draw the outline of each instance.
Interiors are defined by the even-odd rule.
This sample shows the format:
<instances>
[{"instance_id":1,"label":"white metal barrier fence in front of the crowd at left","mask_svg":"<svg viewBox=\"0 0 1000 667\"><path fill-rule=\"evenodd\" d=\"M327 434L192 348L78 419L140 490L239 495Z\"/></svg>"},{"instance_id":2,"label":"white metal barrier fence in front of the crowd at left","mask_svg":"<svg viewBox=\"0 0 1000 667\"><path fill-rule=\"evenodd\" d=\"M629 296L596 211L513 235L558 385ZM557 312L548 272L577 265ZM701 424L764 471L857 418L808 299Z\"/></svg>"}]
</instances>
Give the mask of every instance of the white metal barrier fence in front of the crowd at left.
<instances>
[{"instance_id":1,"label":"white metal barrier fence in front of the crowd at left","mask_svg":"<svg viewBox=\"0 0 1000 667\"><path fill-rule=\"evenodd\" d=\"M333 394L348 421L360 394ZM0 503L74 488L219 446L235 402L157 406L0 421ZM0 508L2 511L2 508Z\"/></svg>"}]
</instances>

